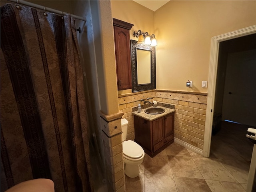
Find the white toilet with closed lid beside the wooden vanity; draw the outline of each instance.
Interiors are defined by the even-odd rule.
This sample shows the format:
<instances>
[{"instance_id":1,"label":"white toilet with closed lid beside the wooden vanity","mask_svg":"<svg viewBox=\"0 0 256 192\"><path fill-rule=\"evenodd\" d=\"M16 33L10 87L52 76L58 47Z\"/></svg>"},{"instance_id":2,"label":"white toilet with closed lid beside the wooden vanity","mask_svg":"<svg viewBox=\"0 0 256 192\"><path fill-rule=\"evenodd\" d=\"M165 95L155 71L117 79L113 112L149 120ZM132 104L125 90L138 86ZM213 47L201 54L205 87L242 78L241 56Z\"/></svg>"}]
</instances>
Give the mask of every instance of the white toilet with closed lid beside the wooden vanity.
<instances>
[{"instance_id":1,"label":"white toilet with closed lid beside the wooden vanity","mask_svg":"<svg viewBox=\"0 0 256 192\"><path fill-rule=\"evenodd\" d=\"M122 119L121 123L124 173L130 178L135 178L140 174L139 165L144 160L145 152L136 142L126 141L128 120Z\"/></svg>"}]
</instances>

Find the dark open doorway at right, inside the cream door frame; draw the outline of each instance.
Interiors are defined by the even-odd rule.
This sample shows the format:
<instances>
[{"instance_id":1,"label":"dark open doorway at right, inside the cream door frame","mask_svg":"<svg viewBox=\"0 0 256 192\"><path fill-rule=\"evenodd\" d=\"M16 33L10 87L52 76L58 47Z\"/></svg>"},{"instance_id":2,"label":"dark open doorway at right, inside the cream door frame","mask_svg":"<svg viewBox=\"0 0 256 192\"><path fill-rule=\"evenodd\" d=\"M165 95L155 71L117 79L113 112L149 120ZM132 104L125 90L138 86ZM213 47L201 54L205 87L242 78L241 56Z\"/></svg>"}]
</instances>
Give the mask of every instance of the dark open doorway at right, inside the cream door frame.
<instances>
[{"instance_id":1,"label":"dark open doorway at right, inside the cream door frame","mask_svg":"<svg viewBox=\"0 0 256 192\"><path fill-rule=\"evenodd\" d=\"M220 42L210 156L251 160L246 134L256 127L255 71L256 34Z\"/></svg>"}]
</instances>

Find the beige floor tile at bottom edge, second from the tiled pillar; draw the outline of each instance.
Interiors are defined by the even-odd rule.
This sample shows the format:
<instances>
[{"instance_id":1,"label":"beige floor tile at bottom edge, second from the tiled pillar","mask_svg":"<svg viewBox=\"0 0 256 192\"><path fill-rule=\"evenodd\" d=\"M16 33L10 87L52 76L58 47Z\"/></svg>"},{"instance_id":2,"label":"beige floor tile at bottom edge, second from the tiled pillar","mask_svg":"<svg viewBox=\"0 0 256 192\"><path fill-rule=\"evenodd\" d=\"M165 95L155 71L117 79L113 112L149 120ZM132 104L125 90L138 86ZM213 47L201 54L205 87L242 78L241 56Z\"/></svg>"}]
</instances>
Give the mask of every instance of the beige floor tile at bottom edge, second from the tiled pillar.
<instances>
[{"instance_id":1,"label":"beige floor tile at bottom edge, second from the tiled pillar","mask_svg":"<svg viewBox=\"0 0 256 192\"><path fill-rule=\"evenodd\" d=\"M172 176L145 174L144 182L144 192L177 192Z\"/></svg>"}]
</instances>

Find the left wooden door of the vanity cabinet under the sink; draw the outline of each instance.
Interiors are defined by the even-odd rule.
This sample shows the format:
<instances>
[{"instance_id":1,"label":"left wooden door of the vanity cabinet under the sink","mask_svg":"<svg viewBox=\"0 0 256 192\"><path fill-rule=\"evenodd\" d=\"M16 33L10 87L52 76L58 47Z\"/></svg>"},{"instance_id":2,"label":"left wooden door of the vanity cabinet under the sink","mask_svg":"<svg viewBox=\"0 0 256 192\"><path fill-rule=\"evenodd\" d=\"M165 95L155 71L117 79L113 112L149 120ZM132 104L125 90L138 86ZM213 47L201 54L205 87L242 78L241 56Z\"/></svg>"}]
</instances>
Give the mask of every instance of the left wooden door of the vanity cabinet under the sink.
<instances>
[{"instance_id":1,"label":"left wooden door of the vanity cabinet under the sink","mask_svg":"<svg viewBox=\"0 0 256 192\"><path fill-rule=\"evenodd\" d=\"M153 145L164 139L164 118L159 118L153 121Z\"/></svg>"}]
</instances>

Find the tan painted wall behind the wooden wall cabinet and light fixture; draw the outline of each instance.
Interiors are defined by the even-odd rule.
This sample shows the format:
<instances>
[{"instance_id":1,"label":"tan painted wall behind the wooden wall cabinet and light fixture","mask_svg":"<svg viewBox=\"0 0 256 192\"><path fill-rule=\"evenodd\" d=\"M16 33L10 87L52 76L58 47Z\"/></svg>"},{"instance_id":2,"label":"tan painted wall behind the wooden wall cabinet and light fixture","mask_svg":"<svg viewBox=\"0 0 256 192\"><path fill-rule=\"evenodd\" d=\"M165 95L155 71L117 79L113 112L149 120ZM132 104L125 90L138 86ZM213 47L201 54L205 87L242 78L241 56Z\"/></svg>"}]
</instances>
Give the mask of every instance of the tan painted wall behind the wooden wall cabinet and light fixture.
<instances>
[{"instance_id":1,"label":"tan painted wall behind the wooden wall cabinet and light fixture","mask_svg":"<svg viewBox=\"0 0 256 192\"><path fill-rule=\"evenodd\" d=\"M113 18L134 24L130 30L130 39L138 40L133 36L134 31L154 33L154 12L134 1L111 1ZM132 90L121 90L118 94L131 93Z\"/></svg>"}]
</instances>

